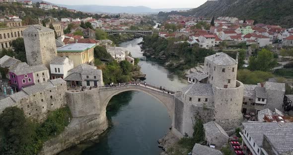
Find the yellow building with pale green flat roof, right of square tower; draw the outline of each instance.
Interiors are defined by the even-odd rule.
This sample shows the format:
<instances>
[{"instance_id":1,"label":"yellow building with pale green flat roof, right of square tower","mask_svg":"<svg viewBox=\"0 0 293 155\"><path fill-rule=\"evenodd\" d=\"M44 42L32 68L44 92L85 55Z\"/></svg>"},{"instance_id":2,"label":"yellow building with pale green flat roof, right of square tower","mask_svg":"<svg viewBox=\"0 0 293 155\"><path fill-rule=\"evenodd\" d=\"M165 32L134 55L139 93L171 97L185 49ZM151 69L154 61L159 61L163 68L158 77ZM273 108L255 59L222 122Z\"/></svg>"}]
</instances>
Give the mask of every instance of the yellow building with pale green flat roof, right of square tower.
<instances>
[{"instance_id":1,"label":"yellow building with pale green flat roof, right of square tower","mask_svg":"<svg viewBox=\"0 0 293 155\"><path fill-rule=\"evenodd\" d=\"M59 57L68 57L73 60L74 67L84 63L94 62L94 47L96 44L67 44L57 49Z\"/></svg>"}]
</instances>

